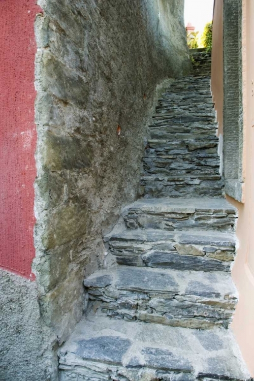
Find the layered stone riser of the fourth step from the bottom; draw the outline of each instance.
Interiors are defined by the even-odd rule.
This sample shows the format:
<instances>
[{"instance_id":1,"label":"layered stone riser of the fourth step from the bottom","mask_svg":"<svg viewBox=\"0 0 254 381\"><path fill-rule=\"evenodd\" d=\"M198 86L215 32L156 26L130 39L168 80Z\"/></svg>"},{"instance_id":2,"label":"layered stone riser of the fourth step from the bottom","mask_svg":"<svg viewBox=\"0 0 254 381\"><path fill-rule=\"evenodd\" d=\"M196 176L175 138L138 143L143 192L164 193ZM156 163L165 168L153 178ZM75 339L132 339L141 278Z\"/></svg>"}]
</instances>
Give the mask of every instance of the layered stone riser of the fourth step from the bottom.
<instances>
[{"instance_id":1,"label":"layered stone riser of the fourth step from the bottom","mask_svg":"<svg viewBox=\"0 0 254 381\"><path fill-rule=\"evenodd\" d=\"M225 211L195 211L194 213L172 213L129 211L124 216L128 229L174 230L219 230L234 231L235 215Z\"/></svg>"}]
</instances>

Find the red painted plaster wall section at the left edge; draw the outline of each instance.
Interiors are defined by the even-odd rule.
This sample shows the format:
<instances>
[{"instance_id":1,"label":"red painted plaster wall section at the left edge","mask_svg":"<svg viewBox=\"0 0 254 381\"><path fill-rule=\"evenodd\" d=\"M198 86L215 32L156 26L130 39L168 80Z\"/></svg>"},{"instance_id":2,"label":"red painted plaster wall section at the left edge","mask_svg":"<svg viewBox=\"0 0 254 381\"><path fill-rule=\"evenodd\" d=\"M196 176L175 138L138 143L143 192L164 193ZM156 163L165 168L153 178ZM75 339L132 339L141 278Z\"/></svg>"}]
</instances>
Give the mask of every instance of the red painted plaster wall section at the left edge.
<instances>
[{"instance_id":1,"label":"red painted plaster wall section at the left edge","mask_svg":"<svg viewBox=\"0 0 254 381\"><path fill-rule=\"evenodd\" d=\"M0 267L34 279L35 0L0 1Z\"/></svg>"}]
</instances>

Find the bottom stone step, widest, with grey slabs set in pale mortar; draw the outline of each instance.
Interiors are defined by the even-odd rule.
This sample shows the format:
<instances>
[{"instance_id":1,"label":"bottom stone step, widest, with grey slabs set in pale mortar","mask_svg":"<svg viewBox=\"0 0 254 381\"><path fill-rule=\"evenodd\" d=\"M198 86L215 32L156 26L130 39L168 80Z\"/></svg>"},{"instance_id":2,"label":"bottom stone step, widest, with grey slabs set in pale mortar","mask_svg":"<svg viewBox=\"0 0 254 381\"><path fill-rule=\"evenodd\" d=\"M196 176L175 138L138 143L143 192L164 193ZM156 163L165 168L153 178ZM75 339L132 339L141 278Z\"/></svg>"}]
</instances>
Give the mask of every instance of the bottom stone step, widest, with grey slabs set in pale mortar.
<instances>
[{"instance_id":1,"label":"bottom stone step, widest, with grey slabs set in pale mortar","mask_svg":"<svg viewBox=\"0 0 254 381\"><path fill-rule=\"evenodd\" d=\"M78 324L58 356L59 369L80 380L250 378L231 330L133 324L97 314Z\"/></svg>"}]
</instances>

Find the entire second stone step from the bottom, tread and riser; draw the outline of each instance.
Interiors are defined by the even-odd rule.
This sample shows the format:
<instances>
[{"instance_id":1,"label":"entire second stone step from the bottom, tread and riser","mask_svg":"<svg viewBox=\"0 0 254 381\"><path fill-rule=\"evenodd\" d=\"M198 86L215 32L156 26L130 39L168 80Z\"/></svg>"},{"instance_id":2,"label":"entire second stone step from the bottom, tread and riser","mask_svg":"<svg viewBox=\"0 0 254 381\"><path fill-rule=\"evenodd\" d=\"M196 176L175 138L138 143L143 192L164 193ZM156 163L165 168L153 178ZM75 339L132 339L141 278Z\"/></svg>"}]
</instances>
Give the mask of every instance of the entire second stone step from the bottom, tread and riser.
<instances>
[{"instance_id":1,"label":"entire second stone step from the bottom, tread and riser","mask_svg":"<svg viewBox=\"0 0 254 381\"><path fill-rule=\"evenodd\" d=\"M90 308L116 319L210 329L231 323L237 292L223 272L118 266L84 280Z\"/></svg>"}]
</instances>

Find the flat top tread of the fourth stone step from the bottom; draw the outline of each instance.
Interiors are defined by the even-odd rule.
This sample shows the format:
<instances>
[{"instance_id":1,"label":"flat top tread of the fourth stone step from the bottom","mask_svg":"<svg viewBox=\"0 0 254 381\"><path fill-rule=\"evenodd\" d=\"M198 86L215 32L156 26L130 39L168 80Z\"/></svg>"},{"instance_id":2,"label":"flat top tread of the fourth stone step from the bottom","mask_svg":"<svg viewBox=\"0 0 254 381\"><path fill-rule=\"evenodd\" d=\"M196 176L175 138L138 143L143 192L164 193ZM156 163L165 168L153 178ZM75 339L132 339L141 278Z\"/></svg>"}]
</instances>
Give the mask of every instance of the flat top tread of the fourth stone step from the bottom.
<instances>
[{"instance_id":1,"label":"flat top tread of the fourth stone step from the bottom","mask_svg":"<svg viewBox=\"0 0 254 381\"><path fill-rule=\"evenodd\" d=\"M151 198L140 199L128 206L128 210L141 209L148 212L186 212L193 213L198 210L221 210L236 213L237 209L226 199L219 198ZM126 210L126 208L125 208Z\"/></svg>"}]
</instances>

